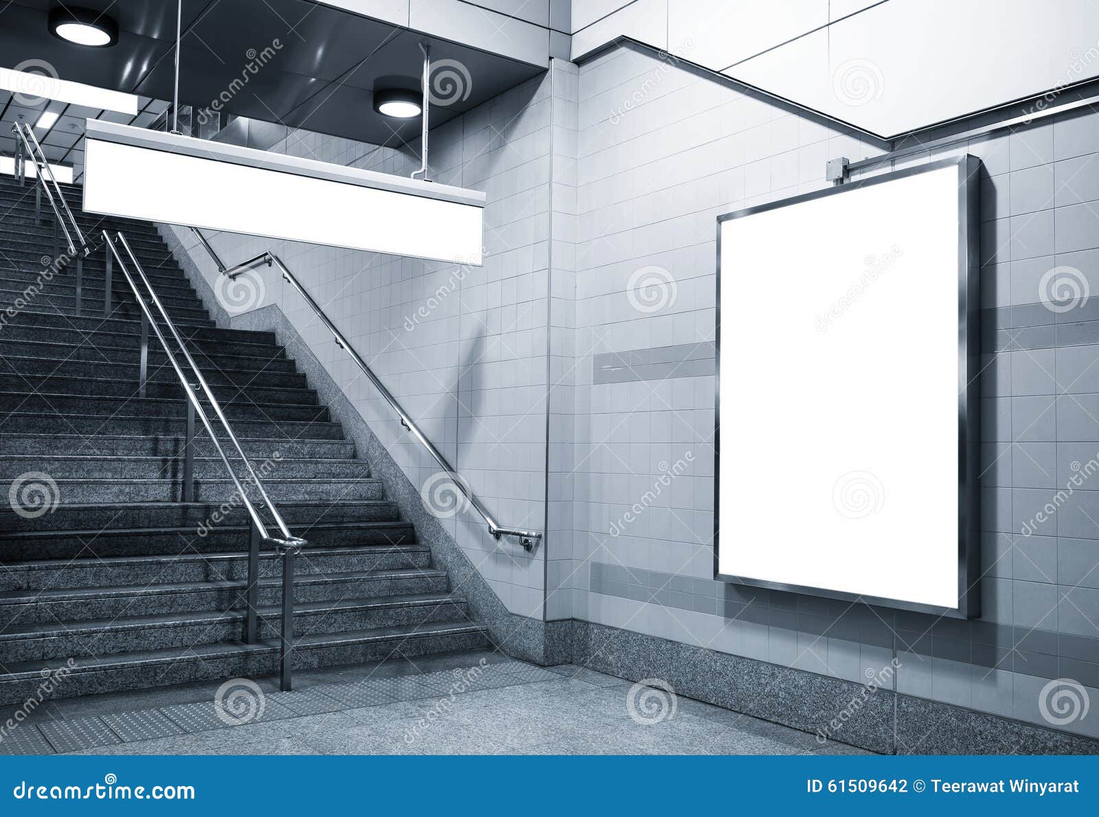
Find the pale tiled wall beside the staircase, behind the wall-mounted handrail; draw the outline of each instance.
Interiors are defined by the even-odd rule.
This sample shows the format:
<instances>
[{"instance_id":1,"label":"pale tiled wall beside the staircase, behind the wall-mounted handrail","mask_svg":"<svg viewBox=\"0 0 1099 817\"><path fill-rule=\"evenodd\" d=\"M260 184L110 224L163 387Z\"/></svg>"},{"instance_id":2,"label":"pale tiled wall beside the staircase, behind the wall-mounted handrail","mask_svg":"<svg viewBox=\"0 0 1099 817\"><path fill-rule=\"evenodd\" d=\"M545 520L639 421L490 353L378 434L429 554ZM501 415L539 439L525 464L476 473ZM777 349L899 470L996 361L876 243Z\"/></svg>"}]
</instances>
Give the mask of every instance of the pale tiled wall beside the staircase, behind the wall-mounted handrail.
<instances>
[{"instance_id":1,"label":"pale tiled wall beside the staircase, behind the wall-mounted handrail","mask_svg":"<svg viewBox=\"0 0 1099 817\"><path fill-rule=\"evenodd\" d=\"M226 265L265 249L279 255L500 522L536 530L545 521L550 110L550 79L540 77L432 132L433 178L488 194L482 267L208 235ZM271 150L408 176L417 147L292 132ZM191 256L219 291L209 257ZM237 302L278 303L409 479L428 484L434 461L309 307L275 275L252 280L262 286L243 284ZM512 612L542 618L544 549L531 556L496 542L471 510L443 522Z\"/></svg>"}]
</instances>

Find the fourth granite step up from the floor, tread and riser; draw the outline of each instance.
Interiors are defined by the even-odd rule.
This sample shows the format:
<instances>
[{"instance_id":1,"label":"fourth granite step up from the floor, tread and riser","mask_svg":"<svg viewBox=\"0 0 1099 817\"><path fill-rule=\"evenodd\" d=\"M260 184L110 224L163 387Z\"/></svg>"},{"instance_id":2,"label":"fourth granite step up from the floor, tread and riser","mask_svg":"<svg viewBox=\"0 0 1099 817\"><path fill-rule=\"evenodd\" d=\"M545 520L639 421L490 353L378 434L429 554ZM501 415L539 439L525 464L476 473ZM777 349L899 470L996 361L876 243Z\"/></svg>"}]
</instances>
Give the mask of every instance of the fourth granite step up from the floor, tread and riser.
<instances>
[{"instance_id":1,"label":"fourth granite step up from the floor, tread and riser","mask_svg":"<svg viewBox=\"0 0 1099 817\"><path fill-rule=\"evenodd\" d=\"M280 564L276 553L260 551L259 575L281 576ZM310 546L308 554L297 561L295 575L428 568L430 564L431 551L415 542L349 548ZM70 587L120 587L148 582L149 576L155 576L155 581L160 583L240 582L247 575L244 551L197 553L186 550L165 555L89 555L3 563L0 589L40 592Z\"/></svg>"}]
</instances>

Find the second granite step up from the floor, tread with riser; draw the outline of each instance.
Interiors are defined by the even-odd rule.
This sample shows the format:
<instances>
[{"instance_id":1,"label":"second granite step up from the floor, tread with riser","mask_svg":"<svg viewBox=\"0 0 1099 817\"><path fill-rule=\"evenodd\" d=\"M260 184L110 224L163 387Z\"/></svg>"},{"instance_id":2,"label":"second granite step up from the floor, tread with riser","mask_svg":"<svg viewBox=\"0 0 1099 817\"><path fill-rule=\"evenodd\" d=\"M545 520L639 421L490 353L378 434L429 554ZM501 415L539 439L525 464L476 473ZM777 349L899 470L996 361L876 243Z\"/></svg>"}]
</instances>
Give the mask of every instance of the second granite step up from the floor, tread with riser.
<instances>
[{"instance_id":1,"label":"second granite step up from the floor, tread with riser","mask_svg":"<svg viewBox=\"0 0 1099 817\"><path fill-rule=\"evenodd\" d=\"M445 593L348 598L295 605L293 628L301 637L408 627L465 619L462 596ZM281 608L259 607L260 639L277 639ZM0 652L9 662L98 658L111 653L197 647L244 640L243 610L214 610L164 616L125 616L31 625L0 631Z\"/></svg>"}]
</instances>

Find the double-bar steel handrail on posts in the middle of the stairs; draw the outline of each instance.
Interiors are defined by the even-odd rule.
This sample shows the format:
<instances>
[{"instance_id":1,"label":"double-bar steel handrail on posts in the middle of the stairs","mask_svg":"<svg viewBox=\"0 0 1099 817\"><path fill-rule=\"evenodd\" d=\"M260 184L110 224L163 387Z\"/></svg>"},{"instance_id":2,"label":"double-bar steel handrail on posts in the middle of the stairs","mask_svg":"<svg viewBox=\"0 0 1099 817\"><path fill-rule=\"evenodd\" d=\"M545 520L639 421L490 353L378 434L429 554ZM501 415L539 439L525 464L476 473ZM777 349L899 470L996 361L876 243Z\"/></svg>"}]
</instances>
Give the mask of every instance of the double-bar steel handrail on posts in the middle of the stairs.
<instances>
[{"instance_id":1,"label":"double-bar steel handrail on posts in the middle of the stairs","mask_svg":"<svg viewBox=\"0 0 1099 817\"><path fill-rule=\"evenodd\" d=\"M281 670L280 686L284 691L289 691L291 686L290 653L292 652L292 642L293 642L293 594L292 594L293 556L296 556L300 552L301 548L304 546L307 542L304 539L299 539L298 537L290 534L289 530L286 527L286 522L282 521L281 515L278 512L278 509L275 507L275 504L271 503L270 497L267 496L267 492L264 489L263 484L259 481L258 474L256 474L255 470L252 467L252 463L245 455L244 449L241 446L240 440L237 440L236 434L233 433L233 429L229 424L229 420L225 419L225 415L221 410L221 405L218 402L218 398L214 397L213 391L210 389L210 386L207 384L206 378L202 376L202 373L199 369L198 364L196 364L195 358L191 356L190 352L187 350L187 345L184 343L182 338L179 335L179 332L176 329L176 324L168 316L167 310L164 308L164 305L157 297L156 291L153 289L153 285L149 283L148 276L145 275L145 271L142 268L141 263L137 261L137 258L134 256L133 251L130 249L130 243L126 241L126 238L121 232L115 233L115 235L118 238L118 241L125 249L126 255L130 256L130 261L134 265L134 269L137 272L137 275L141 277L142 284L144 285L146 291L148 292L149 299L156 306L156 309L160 313L160 317L165 325L168 328L168 330L171 332L171 335L175 338L179 351L182 353L182 356L187 361L188 366L190 366L191 372L195 374L195 377L199 384L199 388L202 390L207 400L209 400L211 408L213 408L214 413L218 416L218 419L221 421L222 428L224 428L225 433L229 435L230 441L236 449L237 455L241 457L241 460L244 461L244 464L247 467L248 474L251 476L252 484L255 485L256 490L259 493L260 497L264 500L264 504L266 505L267 509L274 517L275 522L279 528L279 531L282 533L282 538L273 537L270 536L270 533L268 533L267 526L264 523L264 520L259 516L259 512L256 510L256 507L252 504L252 500L248 498L244 485L241 483L240 477L237 477L236 472L234 471L233 465L230 462L229 455L225 453L225 449L221 444L221 440L219 440L218 435L214 433L213 426L210 422L209 417L207 416L206 409L202 408L202 404L199 400L198 395L195 394L195 390L191 387L190 383L188 382L188 378L184 374L182 368L176 361L176 355L169 347L168 341L164 336L164 332L160 330L160 327L154 319L154 316L149 310L148 305L145 303L145 298L142 296L141 290L138 289L136 283L133 279L133 276L130 274L130 269L126 267L126 264L122 258L122 255L119 253L118 247L114 245L114 241L111 239L110 234L108 234L108 232L104 230L103 231L104 245L110 250L111 254L114 256L114 260L118 262L119 268L122 271L122 275L125 278L126 284L129 284L130 289L133 290L134 299L137 301L137 306L142 310L142 314L145 322L147 322L147 324L153 328L153 331L156 334L157 340L160 341L160 345L164 347L164 352L168 357L168 362L171 364L171 367L175 369L176 374L179 377L180 384L184 387L184 391L187 395L188 401L191 404L196 413L198 413L199 418L202 420L202 426L206 428L207 433L210 435L210 440L212 441L214 449L217 449L218 454L221 456L221 461L222 463L224 463L225 470L229 472L229 476L233 481L233 485L236 488L236 492L241 497L241 501L244 504L245 510L248 514L248 518L252 521L253 536L248 552L248 577L246 584L247 610L245 612L246 641L248 643L256 643L256 641L258 640L257 626L256 626L256 608L258 606L259 545L270 544L276 549L279 555L282 556L282 637L280 639L281 643L280 643L280 662L279 662Z\"/></svg>"}]
</instances>

